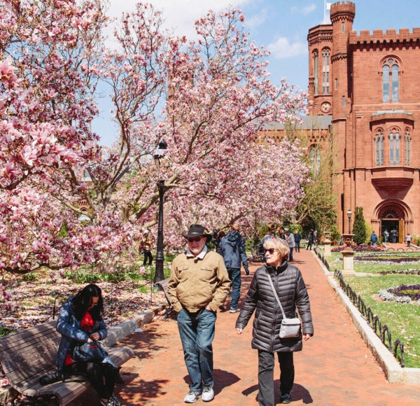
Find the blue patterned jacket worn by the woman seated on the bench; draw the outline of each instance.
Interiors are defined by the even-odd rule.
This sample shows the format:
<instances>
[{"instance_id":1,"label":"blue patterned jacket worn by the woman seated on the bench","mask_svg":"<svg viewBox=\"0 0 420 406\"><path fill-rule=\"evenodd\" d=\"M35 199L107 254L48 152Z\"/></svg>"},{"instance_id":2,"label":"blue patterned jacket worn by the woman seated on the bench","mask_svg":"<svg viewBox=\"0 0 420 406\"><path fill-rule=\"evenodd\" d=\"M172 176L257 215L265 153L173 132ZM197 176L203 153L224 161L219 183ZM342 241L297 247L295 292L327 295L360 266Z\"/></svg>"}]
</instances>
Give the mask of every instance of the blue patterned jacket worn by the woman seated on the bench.
<instances>
[{"instance_id":1,"label":"blue patterned jacket worn by the woman seated on the bench","mask_svg":"<svg viewBox=\"0 0 420 406\"><path fill-rule=\"evenodd\" d=\"M104 320L95 321L94 328L90 334L80 330L81 321L78 320L74 314L73 298L75 296L76 295L69 297L69 299L63 304L62 311L60 311L58 317L57 331L62 335L62 339L59 342L56 363L59 371L61 371L64 367L66 353L74 344L87 342L87 339L89 339L92 332L98 332L99 339L105 339L108 335ZM106 356L104 360L102 360L102 363L114 365L109 356Z\"/></svg>"}]
</instances>

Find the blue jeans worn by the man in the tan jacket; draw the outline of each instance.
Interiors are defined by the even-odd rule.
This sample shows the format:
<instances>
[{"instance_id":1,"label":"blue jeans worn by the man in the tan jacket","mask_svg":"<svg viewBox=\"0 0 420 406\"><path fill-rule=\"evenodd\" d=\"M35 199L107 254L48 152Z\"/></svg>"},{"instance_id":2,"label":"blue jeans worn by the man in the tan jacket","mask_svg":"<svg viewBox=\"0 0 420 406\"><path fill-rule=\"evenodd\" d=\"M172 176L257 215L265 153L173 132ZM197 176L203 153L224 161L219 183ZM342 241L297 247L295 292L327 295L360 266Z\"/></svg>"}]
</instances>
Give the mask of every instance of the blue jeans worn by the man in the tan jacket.
<instances>
[{"instance_id":1,"label":"blue jeans worn by the man in the tan jacket","mask_svg":"<svg viewBox=\"0 0 420 406\"><path fill-rule=\"evenodd\" d=\"M203 309L190 313L181 309L178 314L184 360L190 375L190 391L201 391L202 383L213 382L213 347L216 311Z\"/></svg>"}]
</instances>

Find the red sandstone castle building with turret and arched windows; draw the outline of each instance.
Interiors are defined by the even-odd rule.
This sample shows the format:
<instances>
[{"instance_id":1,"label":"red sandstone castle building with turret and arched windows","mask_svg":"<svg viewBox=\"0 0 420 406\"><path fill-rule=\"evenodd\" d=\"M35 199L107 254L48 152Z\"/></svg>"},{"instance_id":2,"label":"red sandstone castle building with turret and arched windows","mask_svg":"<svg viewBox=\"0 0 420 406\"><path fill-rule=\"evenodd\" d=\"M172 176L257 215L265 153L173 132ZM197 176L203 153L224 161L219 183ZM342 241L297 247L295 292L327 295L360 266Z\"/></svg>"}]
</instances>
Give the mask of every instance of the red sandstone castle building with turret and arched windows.
<instances>
[{"instance_id":1,"label":"red sandstone castle building with turret and arched windows","mask_svg":"<svg viewBox=\"0 0 420 406\"><path fill-rule=\"evenodd\" d=\"M337 140L337 225L356 206L378 235L420 234L420 28L352 31L356 6L332 4L331 24L309 29L311 116ZM326 117L325 117L326 119Z\"/></svg>"}]
</instances>

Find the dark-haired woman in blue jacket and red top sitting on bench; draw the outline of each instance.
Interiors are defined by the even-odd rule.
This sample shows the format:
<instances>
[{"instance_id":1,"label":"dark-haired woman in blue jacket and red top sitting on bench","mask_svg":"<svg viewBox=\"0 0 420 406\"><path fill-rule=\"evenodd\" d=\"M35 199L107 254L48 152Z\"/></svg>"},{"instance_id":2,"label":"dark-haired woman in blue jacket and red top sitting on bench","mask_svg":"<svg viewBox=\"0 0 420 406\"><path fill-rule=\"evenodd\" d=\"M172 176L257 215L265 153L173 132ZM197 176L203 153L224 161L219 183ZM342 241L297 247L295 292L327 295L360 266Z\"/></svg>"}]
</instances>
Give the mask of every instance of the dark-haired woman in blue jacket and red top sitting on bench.
<instances>
[{"instance_id":1,"label":"dark-haired woman in blue jacket and red top sitting on bench","mask_svg":"<svg viewBox=\"0 0 420 406\"><path fill-rule=\"evenodd\" d=\"M59 314L57 331L62 335L57 353L58 372L41 378L41 384L58 381L60 376L85 374L101 398L101 405L119 406L120 401L113 394L119 370L105 355L101 362L80 362L73 360L76 344L94 342L106 338L107 331L102 314L104 304L102 291L91 283L77 295L69 297ZM44 379L44 381L42 381Z\"/></svg>"}]
</instances>

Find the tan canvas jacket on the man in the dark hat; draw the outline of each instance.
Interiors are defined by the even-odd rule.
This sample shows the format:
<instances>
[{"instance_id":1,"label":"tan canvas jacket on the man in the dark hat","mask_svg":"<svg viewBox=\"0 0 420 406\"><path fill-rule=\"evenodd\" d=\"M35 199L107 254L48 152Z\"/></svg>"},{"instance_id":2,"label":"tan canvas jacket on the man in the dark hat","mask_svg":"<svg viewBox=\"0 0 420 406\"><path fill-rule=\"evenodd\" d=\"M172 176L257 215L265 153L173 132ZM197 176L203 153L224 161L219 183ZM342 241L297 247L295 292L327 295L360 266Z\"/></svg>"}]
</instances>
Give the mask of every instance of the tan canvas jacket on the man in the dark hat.
<instances>
[{"instance_id":1,"label":"tan canvas jacket on the man in the dark hat","mask_svg":"<svg viewBox=\"0 0 420 406\"><path fill-rule=\"evenodd\" d=\"M183 307L191 312L199 311L207 304L216 311L229 288L223 257L214 251L207 251L203 259L188 258L182 253L172 262L168 293L175 311Z\"/></svg>"}]
</instances>

